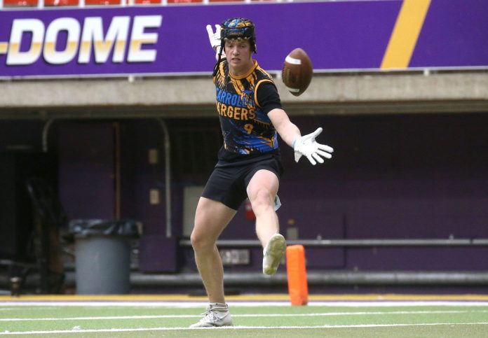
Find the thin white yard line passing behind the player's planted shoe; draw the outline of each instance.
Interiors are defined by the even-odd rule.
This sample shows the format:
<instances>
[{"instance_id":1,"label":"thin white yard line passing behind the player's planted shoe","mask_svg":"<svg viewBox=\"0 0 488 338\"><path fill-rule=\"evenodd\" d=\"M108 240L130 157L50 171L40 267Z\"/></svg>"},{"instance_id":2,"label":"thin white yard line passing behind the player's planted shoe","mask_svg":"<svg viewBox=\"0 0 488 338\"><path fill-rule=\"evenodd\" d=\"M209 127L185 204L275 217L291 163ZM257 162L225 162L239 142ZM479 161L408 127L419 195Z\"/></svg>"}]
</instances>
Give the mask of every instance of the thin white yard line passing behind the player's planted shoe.
<instances>
[{"instance_id":1,"label":"thin white yard line passing behind the player's planted shoe","mask_svg":"<svg viewBox=\"0 0 488 338\"><path fill-rule=\"evenodd\" d=\"M245 317L322 317L322 316L371 316L389 314L481 314L488 310L475 311L353 311L353 312L325 312L318 314L233 314L235 318ZM100 316L100 317L66 317L66 318L0 318L0 322L10 321L96 321L114 319L161 319L161 318L200 318L201 315L151 315L151 316Z\"/></svg>"}]
</instances>

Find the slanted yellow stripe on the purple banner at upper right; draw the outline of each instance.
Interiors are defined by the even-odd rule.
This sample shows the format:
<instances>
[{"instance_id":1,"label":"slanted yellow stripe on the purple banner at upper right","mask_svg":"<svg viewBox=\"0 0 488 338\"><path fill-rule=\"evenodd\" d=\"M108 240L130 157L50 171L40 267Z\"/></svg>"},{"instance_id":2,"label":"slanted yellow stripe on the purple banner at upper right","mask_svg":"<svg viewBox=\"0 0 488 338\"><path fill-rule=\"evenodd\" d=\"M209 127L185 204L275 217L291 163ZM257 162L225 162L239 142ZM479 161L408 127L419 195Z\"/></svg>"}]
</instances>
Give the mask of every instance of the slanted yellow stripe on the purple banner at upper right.
<instances>
[{"instance_id":1,"label":"slanted yellow stripe on the purple banner at upper right","mask_svg":"<svg viewBox=\"0 0 488 338\"><path fill-rule=\"evenodd\" d=\"M404 0L381 69L407 68L431 0Z\"/></svg>"}]
</instances>

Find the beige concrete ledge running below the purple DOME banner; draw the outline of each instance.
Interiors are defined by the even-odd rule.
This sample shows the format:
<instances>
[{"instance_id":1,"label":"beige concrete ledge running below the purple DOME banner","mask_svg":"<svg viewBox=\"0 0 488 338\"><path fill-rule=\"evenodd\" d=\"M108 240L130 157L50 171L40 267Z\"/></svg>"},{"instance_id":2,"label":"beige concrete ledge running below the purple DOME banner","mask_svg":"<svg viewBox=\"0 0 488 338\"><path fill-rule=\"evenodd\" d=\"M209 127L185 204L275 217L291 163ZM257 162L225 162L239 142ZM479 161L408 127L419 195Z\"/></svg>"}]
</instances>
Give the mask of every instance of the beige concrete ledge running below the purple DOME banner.
<instances>
[{"instance_id":1,"label":"beige concrete ledge running below the purple DOME banner","mask_svg":"<svg viewBox=\"0 0 488 338\"><path fill-rule=\"evenodd\" d=\"M488 111L482 71L317 74L300 97L275 82L290 115ZM0 118L8 119L215 115L210 76L2 81L0 92Z\"/></svg>"}]
</instances>

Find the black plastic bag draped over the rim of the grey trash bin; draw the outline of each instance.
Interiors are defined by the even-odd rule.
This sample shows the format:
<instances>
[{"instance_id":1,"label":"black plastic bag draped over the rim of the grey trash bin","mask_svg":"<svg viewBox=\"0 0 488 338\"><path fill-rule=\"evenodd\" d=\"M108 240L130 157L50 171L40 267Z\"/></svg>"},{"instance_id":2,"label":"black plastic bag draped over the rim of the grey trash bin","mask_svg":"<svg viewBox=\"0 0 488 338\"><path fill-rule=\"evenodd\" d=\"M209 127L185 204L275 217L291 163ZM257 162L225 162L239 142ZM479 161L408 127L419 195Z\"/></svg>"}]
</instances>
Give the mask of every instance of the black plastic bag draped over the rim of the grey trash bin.
<instances>
[{"instance_id":1,"label":"black plastic bag draped over the rim of the grey trash bin","mask_svg":"<svg viewBox=\"0 0 488 338\"><path fill-rule=\"evenodd\" d=\"M69 234L76 237L126 236L139 237L139 227L135 220L71 220Z\"/></svg>"}]
</instances>

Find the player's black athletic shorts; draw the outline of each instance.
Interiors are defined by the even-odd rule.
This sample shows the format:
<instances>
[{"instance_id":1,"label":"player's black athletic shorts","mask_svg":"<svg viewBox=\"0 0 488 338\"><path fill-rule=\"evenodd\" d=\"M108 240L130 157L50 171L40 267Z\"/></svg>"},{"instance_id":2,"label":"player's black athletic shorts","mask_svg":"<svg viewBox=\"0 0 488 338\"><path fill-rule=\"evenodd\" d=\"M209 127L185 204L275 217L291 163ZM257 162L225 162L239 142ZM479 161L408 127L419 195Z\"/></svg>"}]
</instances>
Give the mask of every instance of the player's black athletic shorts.
<instances>
[{"instance_id":1,"label":"player's black athletic shorts","mask_svg":"<svg viewBox=\"0 0 488 338\"><path fill-rule=\"evenodd\" d=\"M221 150L219 162L208 178L202 197L222 202L234 210L238 210L240 204L248 197L246 188L258 170L272 171L278 180L283 175L279 151L252 156L248 160L229 161L223 157L225 156L222 156Z\"/></svg>"}]
</instances>

